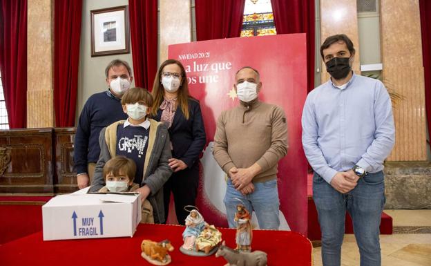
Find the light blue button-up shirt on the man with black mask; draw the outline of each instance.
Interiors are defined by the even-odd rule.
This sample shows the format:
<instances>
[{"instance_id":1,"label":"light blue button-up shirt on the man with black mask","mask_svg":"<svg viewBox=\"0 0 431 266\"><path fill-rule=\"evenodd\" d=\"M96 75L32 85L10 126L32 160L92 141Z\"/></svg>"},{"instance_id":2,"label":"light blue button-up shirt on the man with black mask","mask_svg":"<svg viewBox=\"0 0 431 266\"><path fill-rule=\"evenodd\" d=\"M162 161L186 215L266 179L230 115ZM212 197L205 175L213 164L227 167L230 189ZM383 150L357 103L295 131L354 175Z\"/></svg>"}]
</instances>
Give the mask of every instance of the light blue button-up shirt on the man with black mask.
<instances>
[{"instance_id":1,"label":"light blue button-up shirt on the man with black mask","mask_svg":"<svg viewBox=\"0 0 431 266\"><path fill-rule=\"evenodd\" d=\"M329 80L311 91L303 110L303 146L314 171L330 183L358 165L383 170L395 142L394 117L383 84L353 74L345 88Z\"/></svg>"}]
</instances>

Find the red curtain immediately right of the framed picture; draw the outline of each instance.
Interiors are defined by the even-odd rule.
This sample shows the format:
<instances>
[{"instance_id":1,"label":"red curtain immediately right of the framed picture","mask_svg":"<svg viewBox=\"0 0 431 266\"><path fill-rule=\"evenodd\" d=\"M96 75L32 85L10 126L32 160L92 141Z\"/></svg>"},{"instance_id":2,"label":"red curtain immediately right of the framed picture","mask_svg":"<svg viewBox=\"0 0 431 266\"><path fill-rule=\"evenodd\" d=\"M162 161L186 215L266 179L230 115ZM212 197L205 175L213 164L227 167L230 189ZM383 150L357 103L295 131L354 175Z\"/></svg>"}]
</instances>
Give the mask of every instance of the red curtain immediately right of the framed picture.
<instances>
[{"instance_id":1,"label":"red curtain immediately right of the framed picture","mask_svg":"<svg viewBox=\"0 0 431 266\"><path fill-rule=\"evenodd\" d=\"M138 87L153 88L157 72L157 0L128 0L133 78Z\"/></svg>"}]
</instances>

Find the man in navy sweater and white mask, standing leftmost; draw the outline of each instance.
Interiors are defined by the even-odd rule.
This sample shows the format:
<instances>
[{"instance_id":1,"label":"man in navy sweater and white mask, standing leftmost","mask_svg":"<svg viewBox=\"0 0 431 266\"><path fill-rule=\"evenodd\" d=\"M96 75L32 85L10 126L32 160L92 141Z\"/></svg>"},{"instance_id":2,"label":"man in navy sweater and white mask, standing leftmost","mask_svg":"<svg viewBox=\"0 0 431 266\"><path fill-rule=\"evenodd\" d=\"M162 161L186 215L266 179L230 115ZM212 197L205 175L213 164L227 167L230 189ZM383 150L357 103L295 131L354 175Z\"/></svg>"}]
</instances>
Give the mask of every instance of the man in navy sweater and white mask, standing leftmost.
<instances>
[{"instance_id":1,"label":"man in navy sweater and white mask, standing leftmost","mask_svg":"<svg viewBox=\"0 0 431 266\"><path fill-rule=\"evenodd\" d=\"M105 76L108 90L91 95L79 115L73 157L79 189L88 187L93 178L100 153L100 131L127 118L121 98L133 80L131 67L126 61L115 59L106 66Z\"/></svg>"}]
</instances>

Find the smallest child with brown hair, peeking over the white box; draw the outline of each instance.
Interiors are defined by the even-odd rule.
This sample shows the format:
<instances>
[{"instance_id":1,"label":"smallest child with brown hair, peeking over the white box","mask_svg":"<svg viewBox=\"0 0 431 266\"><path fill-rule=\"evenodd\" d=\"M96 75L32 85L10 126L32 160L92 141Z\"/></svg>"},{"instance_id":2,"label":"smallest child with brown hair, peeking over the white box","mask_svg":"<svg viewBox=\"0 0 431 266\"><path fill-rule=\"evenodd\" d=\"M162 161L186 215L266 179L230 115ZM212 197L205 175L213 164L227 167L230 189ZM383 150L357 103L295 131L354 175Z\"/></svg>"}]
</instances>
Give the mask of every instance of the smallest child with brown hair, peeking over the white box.
<instances>
[{"instance_id":1,"label":"smallest child with brown hair, peeking over the white box","mask_svg":"<svg viewBox=\"0 0 431 266\"><path fill-rule=\"evenodd\" d=\"M136 164L131 158L116 156L106 162L103 168L105 187L99 192L133 192L139 189L139 184L133 183L136 174ZM154 223L153 207L149 200L142 203L141 222Z\"/></svg>"}]
</instances>

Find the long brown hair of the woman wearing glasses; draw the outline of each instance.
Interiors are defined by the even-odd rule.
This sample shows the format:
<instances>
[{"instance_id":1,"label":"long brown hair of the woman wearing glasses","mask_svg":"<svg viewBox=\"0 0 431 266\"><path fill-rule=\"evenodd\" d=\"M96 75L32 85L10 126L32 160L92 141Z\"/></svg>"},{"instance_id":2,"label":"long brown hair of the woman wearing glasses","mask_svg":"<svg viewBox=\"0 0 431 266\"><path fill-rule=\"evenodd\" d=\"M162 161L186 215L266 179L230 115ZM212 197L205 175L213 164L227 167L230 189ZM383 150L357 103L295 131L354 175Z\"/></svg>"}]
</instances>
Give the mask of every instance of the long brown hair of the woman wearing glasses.
<instances>
[{"instance_id":1,"label":"long brown hair of the woman wearing glasses","mask_svg":"<svg viewBox=\"0 0 431 266\"><path fill-rule=\"evenodd\" d=\"M176 104L180 106L182 114L184 115L186 120L189 120L189 98L193 97L189 95L189 82L187 80L186 70L184 69L184 66L182 66L181 62L175 59L167 59L166 61L164 61L160 65L159 70L157 70L157 73L155 74L153 91L151 91L151 94L154 98L154 108L151 110L151 115L157 115L157 111L159 111L160 104L162 104L164 100L164 88L163 85L160 84L160 81L162 80L163 68L172 64L176 64L180 67L182 77L180 88L178 88Z\"/></svg>"}]
</instances>

